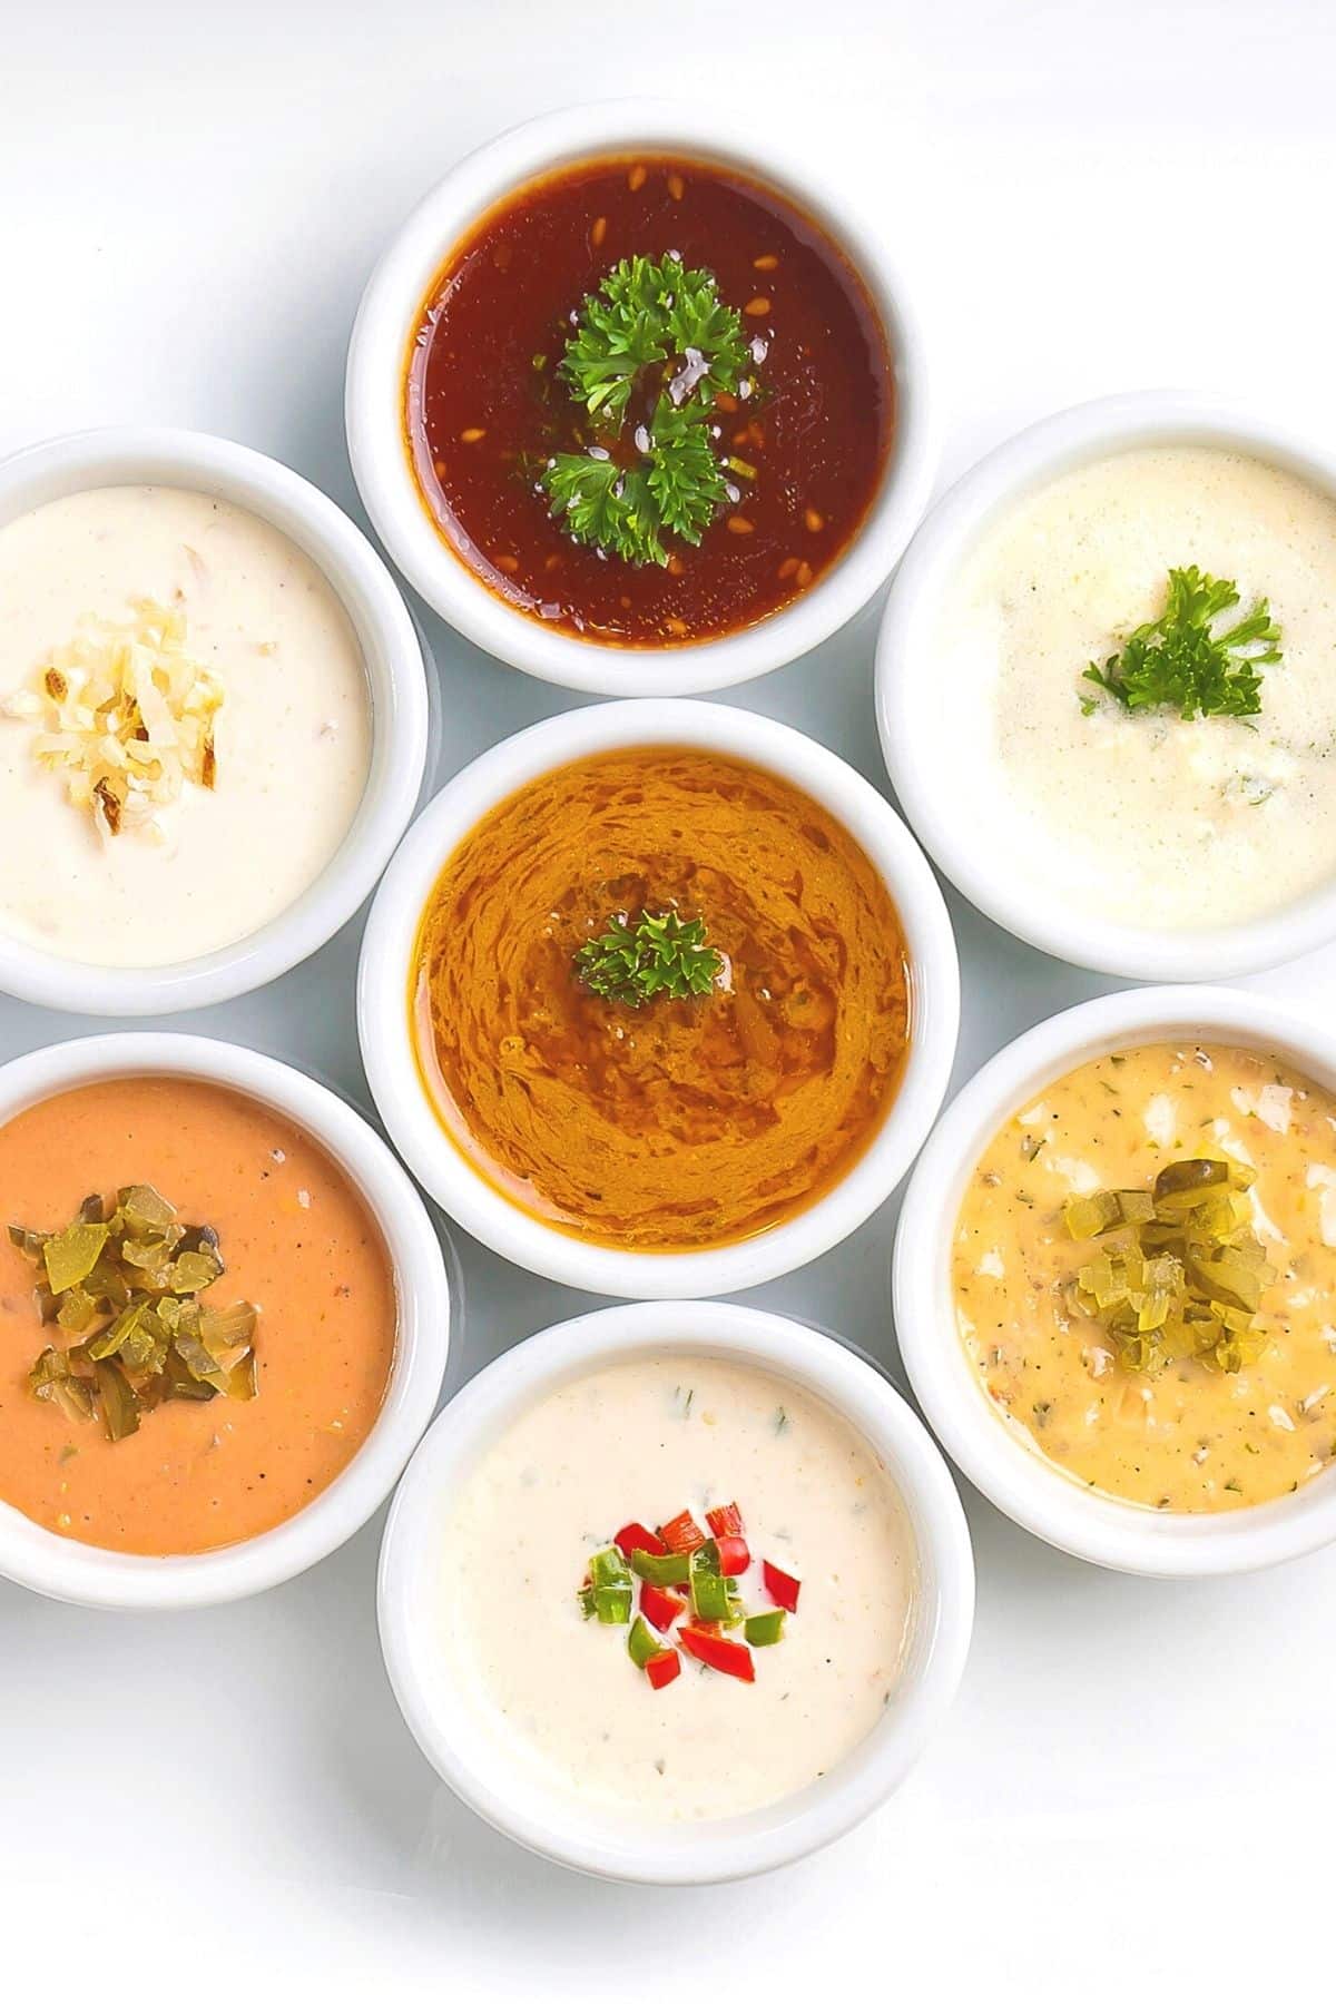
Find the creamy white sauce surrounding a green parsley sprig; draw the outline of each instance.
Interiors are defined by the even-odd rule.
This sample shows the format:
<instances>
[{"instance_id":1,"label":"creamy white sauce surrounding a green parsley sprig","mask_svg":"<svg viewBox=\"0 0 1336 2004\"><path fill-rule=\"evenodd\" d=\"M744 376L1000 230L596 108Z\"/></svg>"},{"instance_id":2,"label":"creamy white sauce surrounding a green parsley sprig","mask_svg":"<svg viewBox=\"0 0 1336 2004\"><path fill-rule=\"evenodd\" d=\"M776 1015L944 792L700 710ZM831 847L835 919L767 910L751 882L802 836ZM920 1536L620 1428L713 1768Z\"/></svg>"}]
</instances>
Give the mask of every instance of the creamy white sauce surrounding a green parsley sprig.
<instances>
[{"instance_id":1,"label":"creamy white sauce surrounding a green parsley sprig","mask_svg":"<svg viewBox=\"0 0 1336 2004\"><path fill-rule=\"evenodd\" d=\"M1082 681L1196 563L1270 599L1248 721L1124 711ZM1336 876L1336 503L1264 461L1148 447L1078 467L979 537L937 625L955 812L1036 892L1152 928L1228 926ZM1082 699L1096 697L1090 715Z\"/></svg>"}]
</instances>

